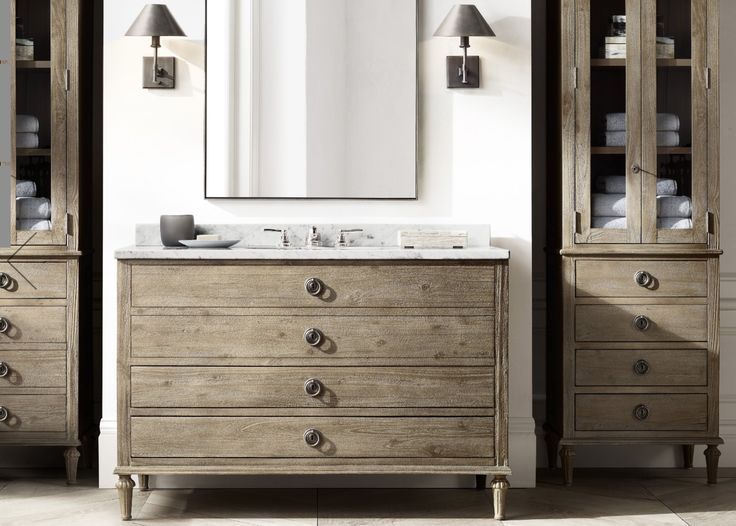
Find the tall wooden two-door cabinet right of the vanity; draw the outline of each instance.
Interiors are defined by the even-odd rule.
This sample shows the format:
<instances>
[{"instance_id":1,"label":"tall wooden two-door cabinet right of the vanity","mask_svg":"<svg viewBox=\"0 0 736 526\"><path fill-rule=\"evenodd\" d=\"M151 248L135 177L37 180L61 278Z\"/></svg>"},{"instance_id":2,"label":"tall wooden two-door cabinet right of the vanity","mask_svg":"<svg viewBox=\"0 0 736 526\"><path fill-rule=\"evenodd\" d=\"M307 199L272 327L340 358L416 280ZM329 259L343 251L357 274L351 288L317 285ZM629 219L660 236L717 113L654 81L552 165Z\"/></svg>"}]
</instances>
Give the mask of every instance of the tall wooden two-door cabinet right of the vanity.
<instances>
[{"instance_id":1,"label":"tall wooden two-door cabinet right of the vanity","mask_svg":"<svg viewBox=\"0 0 736 526\"><path fill-rule=\"evenodd\" d=\"M700 444L715 483L718 0L557 7L550 463L571 484L578 446Z\"/></svg>"}]
</instances>

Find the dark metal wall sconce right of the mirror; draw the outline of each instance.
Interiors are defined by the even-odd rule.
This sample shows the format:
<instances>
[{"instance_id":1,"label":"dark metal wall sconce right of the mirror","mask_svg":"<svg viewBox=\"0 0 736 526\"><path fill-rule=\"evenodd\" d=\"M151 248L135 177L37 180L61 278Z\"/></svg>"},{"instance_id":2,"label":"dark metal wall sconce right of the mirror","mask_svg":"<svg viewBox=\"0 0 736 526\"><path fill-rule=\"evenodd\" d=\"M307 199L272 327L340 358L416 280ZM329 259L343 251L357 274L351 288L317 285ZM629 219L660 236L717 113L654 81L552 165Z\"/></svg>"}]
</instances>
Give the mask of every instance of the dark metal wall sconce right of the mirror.
<instances>
[{"instance_id":1,"label":"dark metal wall sconce right of the mirror","mask_svg":"<svg viewBox=\"0 0 736 526\"><path fill-rule=\"evenodd\" d=\"M470 37L495 37L478 8L472 4L458 4L453 7L440 27L436 37L460 37L463 56L447 57L448 88L479 88L480 57L469 57Z\"/></svg>"}]
</instances>

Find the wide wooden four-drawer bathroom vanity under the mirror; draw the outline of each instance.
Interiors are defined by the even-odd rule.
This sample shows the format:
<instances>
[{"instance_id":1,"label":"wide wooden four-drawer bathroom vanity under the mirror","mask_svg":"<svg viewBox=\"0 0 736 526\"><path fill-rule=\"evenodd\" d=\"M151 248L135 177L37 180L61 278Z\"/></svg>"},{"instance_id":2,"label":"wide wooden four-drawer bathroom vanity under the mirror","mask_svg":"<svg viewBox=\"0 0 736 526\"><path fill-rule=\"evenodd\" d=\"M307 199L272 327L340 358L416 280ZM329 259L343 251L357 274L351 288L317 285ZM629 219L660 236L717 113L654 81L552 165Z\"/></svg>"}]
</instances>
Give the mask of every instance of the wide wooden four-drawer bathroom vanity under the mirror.
<instances>
[{"instance_id":1,"label":"wide wooden four-drawer bathroom vanity under the mirror","mask_svg":"<svg viewBox=\"0 0 736 526\"><path fill-rule=\"evenodd\" d=\"M120 250L118 467L492 476L508 488L508 252Z\"/></svg>"}]
</instances>

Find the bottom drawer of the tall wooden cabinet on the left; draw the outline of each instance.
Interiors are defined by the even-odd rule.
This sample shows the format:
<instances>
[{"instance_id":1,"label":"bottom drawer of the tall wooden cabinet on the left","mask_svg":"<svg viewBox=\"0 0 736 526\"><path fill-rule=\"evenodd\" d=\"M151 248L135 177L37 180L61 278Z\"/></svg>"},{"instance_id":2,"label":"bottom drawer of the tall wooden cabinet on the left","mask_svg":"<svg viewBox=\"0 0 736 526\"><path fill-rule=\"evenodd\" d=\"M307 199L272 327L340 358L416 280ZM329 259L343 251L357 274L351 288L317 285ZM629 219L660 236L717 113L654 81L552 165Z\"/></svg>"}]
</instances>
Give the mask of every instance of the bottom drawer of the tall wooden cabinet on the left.
<instances>
[{"instance_id":1,"label":"bottom drawer of the tall wooden cabinet on the left","mask_svg":"<svg viewBox=\"0 0 736 526\"><path fill-rule=\"evenodd\" d=\"M2 433L66 430L64 395L0 394L0 406L7 411L7 418L0 422L0 437Z\"/></svg>"}]
</instances>

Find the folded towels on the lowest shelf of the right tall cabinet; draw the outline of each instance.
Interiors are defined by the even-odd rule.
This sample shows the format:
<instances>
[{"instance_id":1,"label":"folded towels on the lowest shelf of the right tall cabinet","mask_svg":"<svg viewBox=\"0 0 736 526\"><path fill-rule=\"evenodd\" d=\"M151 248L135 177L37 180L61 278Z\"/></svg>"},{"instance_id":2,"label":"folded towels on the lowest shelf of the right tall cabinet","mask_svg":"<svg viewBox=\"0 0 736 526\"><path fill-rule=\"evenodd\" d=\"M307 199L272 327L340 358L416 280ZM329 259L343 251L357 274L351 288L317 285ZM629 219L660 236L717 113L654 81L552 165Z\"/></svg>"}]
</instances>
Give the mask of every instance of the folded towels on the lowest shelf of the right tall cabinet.
<instances>
[{"instance_id":1,"label":"folded towels on the lowest shelf of the right tall cabinet","mask_svg":"<svg viewBox=\"0 0 736 526\"><path fill-rule=\"evenodd\" d=\"M598 177L593 194L591 227L626 228L626 177ZM677 182L657 179L657 228L687 230L693 227L693 203L677 195Z\"/></svg>"}]
</instances>

